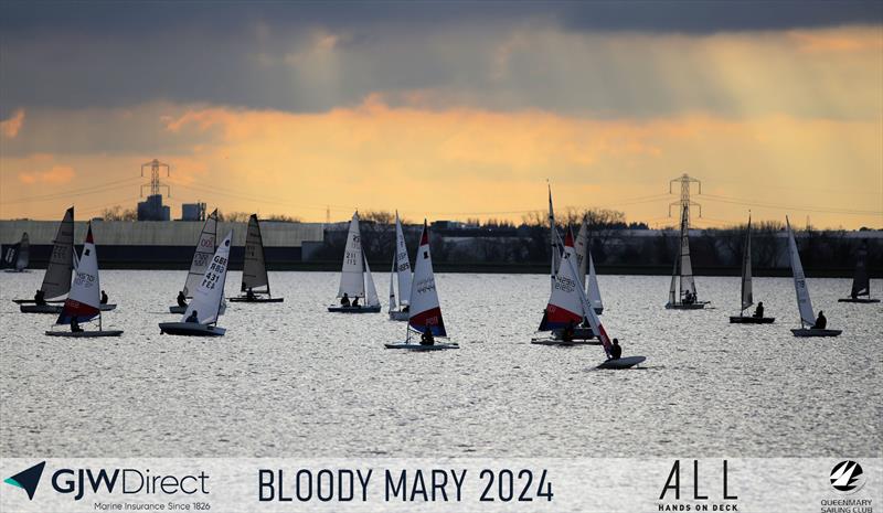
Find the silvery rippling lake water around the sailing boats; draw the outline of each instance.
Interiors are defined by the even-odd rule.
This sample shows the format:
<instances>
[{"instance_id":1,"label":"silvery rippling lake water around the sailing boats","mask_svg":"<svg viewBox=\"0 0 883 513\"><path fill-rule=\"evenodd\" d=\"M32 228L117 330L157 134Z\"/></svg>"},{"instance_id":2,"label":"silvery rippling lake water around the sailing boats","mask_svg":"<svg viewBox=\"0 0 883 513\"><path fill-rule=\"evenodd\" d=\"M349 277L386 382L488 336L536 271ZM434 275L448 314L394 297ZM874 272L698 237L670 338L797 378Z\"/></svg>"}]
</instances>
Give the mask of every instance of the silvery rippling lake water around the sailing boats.
<instances>
[{"instance_id":1,"label":"silvery rippling lake water around the sailing boats","mask_svg":"<svg viewBox=\"0 0 883 513\"><path fill-rule=\"evenodd\" d=\"M879 455L883 316L810 279L836 339L797 339L790 279L756 278L768 325L731 325L738 278L699 277L716 309L669 311L669 277L600 276L602 321L643 368L598 346L531 345L540 275L436 276L458 351L384 350L405 323L328 313L338 275L270 272L284 303L231 303L221 339L160 335L183 271L108 270L119 339L53 339L21 314L43 271L0 274L4 457L785 457ZM231 272L227 295L237 292ZM379 274L385 296L389 281ZM880 296L880 280L872 284ZM385 309L385 308L384 308Z\"/></svg>"}]
</instances>

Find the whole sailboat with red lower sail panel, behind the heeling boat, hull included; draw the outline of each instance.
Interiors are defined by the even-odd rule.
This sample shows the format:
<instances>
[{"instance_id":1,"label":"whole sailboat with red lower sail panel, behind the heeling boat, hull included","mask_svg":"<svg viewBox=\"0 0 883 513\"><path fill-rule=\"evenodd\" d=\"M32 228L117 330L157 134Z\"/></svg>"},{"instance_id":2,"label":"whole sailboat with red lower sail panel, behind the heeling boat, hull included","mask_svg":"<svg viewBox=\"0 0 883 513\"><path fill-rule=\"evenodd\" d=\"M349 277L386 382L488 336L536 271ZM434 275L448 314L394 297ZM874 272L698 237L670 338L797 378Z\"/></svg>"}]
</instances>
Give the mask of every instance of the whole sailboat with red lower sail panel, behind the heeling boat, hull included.
<instances>
[{"instance_id":1,"label":"whole sailboat with red lower sail panel, behind the heeling boat, hull included","mask_svg":"<svg viewBox=\"0 0 883 513\"><path fill-rule=\"evenodd\" d=\"M585 320L583 314L583 303L579 299L583 287L579 281L578 270L574 276L571 275L571 268L577 269L576 264L571 266L573 260L576 260L576 252L574 250L573 232L567 229L567 235L564 238L564 254L562 255L558 271L555 274L555 287L552 289L552 295L549 297L549 304L543 312L543 319L540 321L538 331L551 331L553 336L550 339L534 339L532 344L540 345L586 345L586 344L600 344L600 341L588 341L595 336L591 328L581 328ZM593 309L594 312L594 309ZM572 325L574 333L572 340L563 339L563 330Z\"/></svg>"}]
</instances>

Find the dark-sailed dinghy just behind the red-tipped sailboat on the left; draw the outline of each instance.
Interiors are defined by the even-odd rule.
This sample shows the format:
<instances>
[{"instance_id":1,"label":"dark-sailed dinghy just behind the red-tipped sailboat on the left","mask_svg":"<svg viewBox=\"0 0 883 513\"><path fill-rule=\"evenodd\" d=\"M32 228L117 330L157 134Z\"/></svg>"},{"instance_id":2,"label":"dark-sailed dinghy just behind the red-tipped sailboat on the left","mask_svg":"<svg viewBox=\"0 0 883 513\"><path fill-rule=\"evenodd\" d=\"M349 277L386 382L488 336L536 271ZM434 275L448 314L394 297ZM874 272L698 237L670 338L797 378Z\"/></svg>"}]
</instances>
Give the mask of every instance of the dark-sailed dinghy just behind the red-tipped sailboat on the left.
<instances>
[{"instance_id":1,"label":"dark-sailed dinghy just behind the red-tipped sailboat on the left","mask_svg":"<svg viewBox=\"0 0 883 513\"><path fill-rule=\"evenodd\" d=\"M67 209L64 213L58 231L53 241L52 254L49 258L46 272L43 275L43 284L40 290L46 302L58 299L67 295L71 290L71 276L74 267L74 207ZM60 313L61 306L36 304L33 299L15 299L22 313ZM52 301L61 303L60 301Z\"/></svg>"}]
</instances>

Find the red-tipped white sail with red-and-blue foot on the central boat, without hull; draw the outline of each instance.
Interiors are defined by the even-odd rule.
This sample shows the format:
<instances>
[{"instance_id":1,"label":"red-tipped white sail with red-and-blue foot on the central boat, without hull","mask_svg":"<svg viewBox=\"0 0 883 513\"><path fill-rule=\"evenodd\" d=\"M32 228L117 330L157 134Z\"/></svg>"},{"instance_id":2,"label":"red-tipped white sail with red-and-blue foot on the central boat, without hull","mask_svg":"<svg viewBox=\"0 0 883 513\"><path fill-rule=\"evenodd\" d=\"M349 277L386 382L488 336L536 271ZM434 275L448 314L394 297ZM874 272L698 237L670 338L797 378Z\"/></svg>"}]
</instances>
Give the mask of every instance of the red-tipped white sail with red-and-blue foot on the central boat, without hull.
<instances>
[{"instance_id":1,"label":"red-tipped white sail with red-and-blue foot on the central boat, without hull","mask_svg":"<svg viewBox=\"0 0 883 513\"><path fill-rule=\"evenodd\" d=\"M411 282L411 317L407 323L411 329L421 333L429 330L435 336L447 336L445 321L442 319L442 307L438 303L438 291L435 288L426 220L423 222L421 246L417 248L414 279Z\"/></svg>"}]
</instances>

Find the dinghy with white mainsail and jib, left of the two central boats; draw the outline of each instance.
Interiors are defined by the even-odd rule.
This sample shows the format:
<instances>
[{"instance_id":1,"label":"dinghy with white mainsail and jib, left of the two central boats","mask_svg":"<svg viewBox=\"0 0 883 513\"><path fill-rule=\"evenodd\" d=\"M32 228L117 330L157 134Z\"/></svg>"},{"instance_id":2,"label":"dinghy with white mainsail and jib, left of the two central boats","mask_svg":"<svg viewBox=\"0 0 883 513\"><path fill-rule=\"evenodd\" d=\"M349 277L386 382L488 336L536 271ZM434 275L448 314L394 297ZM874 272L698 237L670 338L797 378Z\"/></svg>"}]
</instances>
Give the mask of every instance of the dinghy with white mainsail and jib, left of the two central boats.
<instances>
[{"instance_id":1,"label":"dinghy with white mainsail and jib, left of the two central boats","mask_svg":"<svg viewBox=\"0 0 883 513\"><path fill-rule=\"evenodd\" d=\"M365 296L365 290L373 290L373 295ZM380 298L374 287L374 277L368 268L368 258L362 252L362 235L359 231L359 212L352 214L350 231L347 234L347 248L343 252L343 266L340 270L340 287L338 298L354 301L366 299L365 304L343 304L328 307L329 312L342 313L376 313L380 311Z\"/></svg>"}]
</instances>

